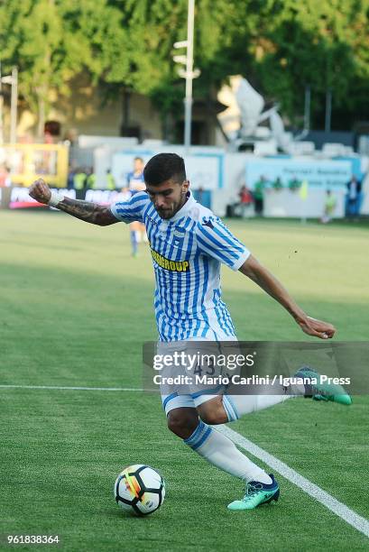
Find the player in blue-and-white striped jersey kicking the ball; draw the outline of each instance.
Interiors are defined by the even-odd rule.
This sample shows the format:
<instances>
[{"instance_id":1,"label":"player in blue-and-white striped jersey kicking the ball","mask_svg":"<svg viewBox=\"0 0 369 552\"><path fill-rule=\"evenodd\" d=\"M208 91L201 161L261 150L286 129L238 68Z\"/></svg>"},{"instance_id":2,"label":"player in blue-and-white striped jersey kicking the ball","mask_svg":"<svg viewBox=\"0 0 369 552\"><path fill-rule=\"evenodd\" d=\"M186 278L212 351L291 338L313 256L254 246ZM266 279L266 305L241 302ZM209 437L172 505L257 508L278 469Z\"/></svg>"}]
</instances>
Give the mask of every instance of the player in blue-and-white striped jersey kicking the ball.
<instances>
[{"instance_id":1,"label":"player in blue-and-white striped jersey kicking the ball","mask_svg":"<svg viewBox=\"0 0 369 552\"><path fill-rule=\"evenodd\" d=\"M220 265L241 271L276 299L309 336L328 339L335 328L309 317L281 283L266 270L207 207L195 201L189 191L184 161L175 153L159 153L146 164L146 189L129 201L110 207L65 198L51 192L42 179L36 180L30 195L37 201L95 225L139 221L146 226L156 279L155 315L161 344L191 340L236 340L232 319L221 299ZM346 394L333 394L312 382L314 371L298 373L311 381L310 395L350 404ZM310 378L310 380L309 380ZM342 388L341 388L342 390ZM228 505L230 510L250 510L277 500L279 486L224 434L211 426L238 419L282 400L283 395L180 394L162 396L168 427L208 462L241 478L244 498Z\"/></svg>"}]
</instances>

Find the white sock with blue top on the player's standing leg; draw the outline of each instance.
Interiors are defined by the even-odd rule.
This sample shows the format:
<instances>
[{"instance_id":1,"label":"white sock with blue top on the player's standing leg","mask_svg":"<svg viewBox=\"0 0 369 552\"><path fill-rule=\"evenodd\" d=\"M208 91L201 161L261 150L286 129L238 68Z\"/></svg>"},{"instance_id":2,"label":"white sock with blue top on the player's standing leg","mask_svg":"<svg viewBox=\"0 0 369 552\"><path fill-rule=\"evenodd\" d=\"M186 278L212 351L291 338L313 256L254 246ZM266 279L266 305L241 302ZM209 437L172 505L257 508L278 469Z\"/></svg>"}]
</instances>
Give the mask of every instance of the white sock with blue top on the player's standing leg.
<instances>
[{"instance_id":1,"label":"white sock with blue top on the player's standing leg","mask_svg":"<svg viewBox=\"0 0 369 552\"><path fill-rule=\"evenodd\" d=\"M272 483L272 478L243 455L231 439L219 433L217 429L204 424L201 420L192 435L188 439L184 439L184 443L198 455L206 458L210 464L216 465L228 474L240 477L246 482Z\"/></svg>"}]
</instances>

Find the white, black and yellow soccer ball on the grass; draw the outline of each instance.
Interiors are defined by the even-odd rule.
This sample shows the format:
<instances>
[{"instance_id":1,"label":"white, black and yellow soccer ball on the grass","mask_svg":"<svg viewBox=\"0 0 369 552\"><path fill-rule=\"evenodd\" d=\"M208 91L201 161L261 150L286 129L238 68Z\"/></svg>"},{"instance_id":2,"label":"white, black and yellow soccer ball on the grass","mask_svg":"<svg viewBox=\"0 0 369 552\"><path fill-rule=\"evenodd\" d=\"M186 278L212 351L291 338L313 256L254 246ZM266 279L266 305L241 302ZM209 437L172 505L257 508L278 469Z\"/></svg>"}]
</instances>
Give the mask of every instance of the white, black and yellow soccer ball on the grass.
<instances>
[{"instance_id":1,"label":"white, black and yellow soccer ball on the grass","mask_svg":"<svg viewBox=\"0 0 369 552\"><path fill-rule=\"evenodd\" d=\"M137 516L146 516L161 507L165 497L165 483L149 465L129 465L114 484L116 503Z\"/></svg>"}]
</instances>

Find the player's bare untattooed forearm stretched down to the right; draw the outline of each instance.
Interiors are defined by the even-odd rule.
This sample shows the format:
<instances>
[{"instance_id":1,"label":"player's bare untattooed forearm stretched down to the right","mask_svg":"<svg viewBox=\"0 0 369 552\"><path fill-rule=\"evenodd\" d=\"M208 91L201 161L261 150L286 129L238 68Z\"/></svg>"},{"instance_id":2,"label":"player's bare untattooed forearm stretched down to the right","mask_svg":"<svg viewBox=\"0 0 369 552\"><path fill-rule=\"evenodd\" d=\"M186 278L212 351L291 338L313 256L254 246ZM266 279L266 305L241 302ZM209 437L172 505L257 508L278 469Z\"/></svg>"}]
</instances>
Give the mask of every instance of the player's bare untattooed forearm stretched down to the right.
<instances>
[{"instance_id":1,"label":"player's bare untattooed forearm stretched down to the right","mask_svg":"<svg viewBox=\"0 0 369 552\"><path fill-rule=\"evenodd\" d=\"M290 293L281 285L281 282L256 259L252 258L250 262L245 262L240 271L268 293L272 299L278 301L297 322L306 318L306 313L291 298Z\"/></svg>"}]
</instances>

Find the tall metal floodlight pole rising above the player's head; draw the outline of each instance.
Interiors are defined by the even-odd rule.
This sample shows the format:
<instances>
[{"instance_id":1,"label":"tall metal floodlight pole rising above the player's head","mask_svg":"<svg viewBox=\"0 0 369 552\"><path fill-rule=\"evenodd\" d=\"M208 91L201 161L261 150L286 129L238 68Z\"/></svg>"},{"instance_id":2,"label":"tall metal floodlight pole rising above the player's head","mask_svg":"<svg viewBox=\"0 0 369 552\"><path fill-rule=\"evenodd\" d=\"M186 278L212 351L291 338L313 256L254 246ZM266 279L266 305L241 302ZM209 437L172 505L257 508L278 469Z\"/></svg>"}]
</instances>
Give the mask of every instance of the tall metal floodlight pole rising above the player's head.
<instances>
[{"instance_id":1,"label":"tall metal floodlight pole rising above the player's head","mask_svg":"<svg viewBox=\"0 0 369 552\"><path fill-rule=\"evenodd\" d=\"M186 97L185 97L185 154L189 154L191 145L191 118L192 118L192 79L193 79L193 27L195 15L195 0L189 0L189 14L187 20L187 56L186 56Z\"/></svg>"}]
</instances>

